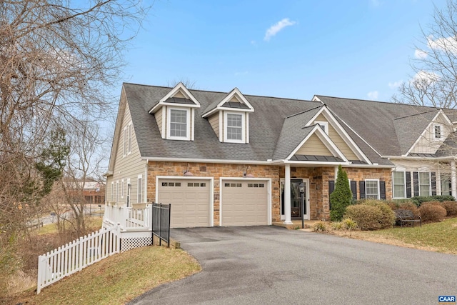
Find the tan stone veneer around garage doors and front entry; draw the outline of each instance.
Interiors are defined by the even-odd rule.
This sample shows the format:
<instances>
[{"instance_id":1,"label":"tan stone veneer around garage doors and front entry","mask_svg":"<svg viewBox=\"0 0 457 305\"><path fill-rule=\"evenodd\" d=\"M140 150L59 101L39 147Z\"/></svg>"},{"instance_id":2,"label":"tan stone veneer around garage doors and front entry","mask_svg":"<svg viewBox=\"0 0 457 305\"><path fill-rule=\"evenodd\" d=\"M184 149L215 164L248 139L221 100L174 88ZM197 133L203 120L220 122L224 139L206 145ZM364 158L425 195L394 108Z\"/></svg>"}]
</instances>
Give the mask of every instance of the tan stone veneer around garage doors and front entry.
<instances>
[{"instance_id":1,"label":"tan stone veneer around garage doors and front entry","mask_svg":"<svg viewBox=\"0 0 457 305\"><path fill-rule=\"evenodd\" d=\"M149 161L148 166L148 201L156 198L156 176L176 176L184 178L187 162ZM220 178L243 178L243 172L250 166L250 173L255 178L271 179L271 220L281 220L280 179L284 178L283 166L253 165L253 164L216 164L189 163L189 171L194 177L214 177L214 226L219 226ZM357 181L357 199L360 199L358 181L378 179L386 181L386 199L392 199L391 169L343 168L348 179ZM328 181L335 181L336 168L331 167L294 167L291 166L291 179L309 179L310 219L330 219Z\"/></svg>"}]
</instances>

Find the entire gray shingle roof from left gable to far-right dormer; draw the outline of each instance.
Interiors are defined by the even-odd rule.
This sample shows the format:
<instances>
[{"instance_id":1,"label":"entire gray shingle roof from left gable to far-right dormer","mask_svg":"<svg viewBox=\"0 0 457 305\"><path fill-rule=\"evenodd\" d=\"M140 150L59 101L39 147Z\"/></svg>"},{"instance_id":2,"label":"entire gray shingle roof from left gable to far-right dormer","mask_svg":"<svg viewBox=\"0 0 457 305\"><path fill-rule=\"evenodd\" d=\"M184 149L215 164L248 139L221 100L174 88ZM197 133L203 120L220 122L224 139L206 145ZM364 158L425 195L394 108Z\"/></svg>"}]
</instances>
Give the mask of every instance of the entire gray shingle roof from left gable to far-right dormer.
<instances>
[{"instance_id":1,"label":"entire gray shingle roof from left gable to far-right dormer","mask_svg":"<svg viewBox=\"0 0 457 305\"><path fill-rule=\"evenodd\" d=\"M308 135L313 126L305 127L306 123L317 114L322 104L326 104L371 162L392 165L391 161L381 158L379 154L404 154L438 111L430 107L330 96L317 96L321 103L244 95L254 109L249 114L249 143L221 143L209 121L201 116L214 109L228 94L189 90L201 104L200 108L195 109L195 139L174 141L161 139L156 119L149 114L149 110L171 89L124 84L142 157L233 161L284 159Z\"/></svg>"}]
</instances>

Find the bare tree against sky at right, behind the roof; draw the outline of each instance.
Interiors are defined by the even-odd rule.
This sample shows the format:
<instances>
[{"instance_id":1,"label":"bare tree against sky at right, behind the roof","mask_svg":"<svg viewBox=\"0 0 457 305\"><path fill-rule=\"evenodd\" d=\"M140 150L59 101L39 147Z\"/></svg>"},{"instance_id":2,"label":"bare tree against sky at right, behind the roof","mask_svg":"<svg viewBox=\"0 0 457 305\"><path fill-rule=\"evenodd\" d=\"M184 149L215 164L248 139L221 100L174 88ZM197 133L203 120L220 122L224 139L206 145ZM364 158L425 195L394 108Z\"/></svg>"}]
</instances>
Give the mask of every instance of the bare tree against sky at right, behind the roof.
<instances>
[{"instance_id":1,"label":"bare tree against sky at right, behind the roof","mask_svg":"<svg viewBox=\"0 0 457 305\"><path fill-rule=\"evenodd\" d=\"M393 101L402 104L457 107L457 1L435 6L433 24L421 31L411 59L413 75L401 84Z\"/></svg>"}]
</instances>

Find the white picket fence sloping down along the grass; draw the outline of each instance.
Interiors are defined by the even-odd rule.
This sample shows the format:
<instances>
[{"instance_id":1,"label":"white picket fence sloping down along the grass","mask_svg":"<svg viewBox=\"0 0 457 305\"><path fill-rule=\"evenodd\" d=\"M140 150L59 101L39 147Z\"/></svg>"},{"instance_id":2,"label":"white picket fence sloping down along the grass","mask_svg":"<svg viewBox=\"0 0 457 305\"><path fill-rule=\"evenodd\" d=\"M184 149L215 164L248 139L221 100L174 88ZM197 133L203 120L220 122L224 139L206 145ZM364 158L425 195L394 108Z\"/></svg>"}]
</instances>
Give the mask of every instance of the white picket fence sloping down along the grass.
<instances>
[{"instance_id":1,"label":"white picket fence sloping down along the grass","mask_svg":"<svg viewBox=\"0 0 457 305\"><path fill-rule=\"evenodd\" d=\"M65 276L86 268L121 250L119 226L100 229L38 257L36 294Z\"/></svg>"}]
</instances>

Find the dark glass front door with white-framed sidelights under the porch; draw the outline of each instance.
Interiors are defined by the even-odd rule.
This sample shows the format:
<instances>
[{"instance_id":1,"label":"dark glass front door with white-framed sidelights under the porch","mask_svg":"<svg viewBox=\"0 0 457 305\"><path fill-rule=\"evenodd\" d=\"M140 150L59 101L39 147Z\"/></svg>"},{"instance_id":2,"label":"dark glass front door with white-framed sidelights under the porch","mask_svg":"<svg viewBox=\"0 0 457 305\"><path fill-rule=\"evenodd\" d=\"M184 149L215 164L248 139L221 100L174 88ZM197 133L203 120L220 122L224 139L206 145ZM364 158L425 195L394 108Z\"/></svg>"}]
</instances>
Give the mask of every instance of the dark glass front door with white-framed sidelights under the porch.
<instances>
[{"instance_id":1,"label":"dark glass front door with white-framed sidelights under the porch","mask_svg":"<svg viewBox=\"0 0 457 305\"><path fill-rule=\"evenodd\" d=\"M290 198L291 198L291 219L301 219L304 215L304 219L309 219L309 190L308 190L308 179L291 179L290 184ZM300 194L300 184L303 183L303 203L304 203L304 214L302 214L302 200ZM284 191L284 179L281 179L281 219L285 217L285 191Z\"/></svg>"}]
</instances>

